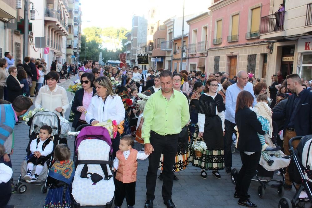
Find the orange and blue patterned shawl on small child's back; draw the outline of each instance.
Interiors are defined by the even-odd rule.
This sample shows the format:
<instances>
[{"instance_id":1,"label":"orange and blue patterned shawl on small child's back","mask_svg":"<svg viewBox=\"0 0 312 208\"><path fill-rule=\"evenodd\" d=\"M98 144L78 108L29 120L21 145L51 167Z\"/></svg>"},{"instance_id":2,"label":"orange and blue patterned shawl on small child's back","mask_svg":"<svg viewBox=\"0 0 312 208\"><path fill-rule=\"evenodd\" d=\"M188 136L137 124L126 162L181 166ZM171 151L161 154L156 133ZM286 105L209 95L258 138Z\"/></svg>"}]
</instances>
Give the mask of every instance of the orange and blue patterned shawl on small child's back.
<instances>
[{"instance_id":1,"label":"orange and blue patterned shawl on small child's back","mask_svg":"<svg viewBox=\"0 0 312 208\"><path fill-rule=\"evenodd\" d=\"M52 165L49 176L56 180L71 184L74 177L75 165L72 160L56 161Z\"/></svg>"}]
</instances>

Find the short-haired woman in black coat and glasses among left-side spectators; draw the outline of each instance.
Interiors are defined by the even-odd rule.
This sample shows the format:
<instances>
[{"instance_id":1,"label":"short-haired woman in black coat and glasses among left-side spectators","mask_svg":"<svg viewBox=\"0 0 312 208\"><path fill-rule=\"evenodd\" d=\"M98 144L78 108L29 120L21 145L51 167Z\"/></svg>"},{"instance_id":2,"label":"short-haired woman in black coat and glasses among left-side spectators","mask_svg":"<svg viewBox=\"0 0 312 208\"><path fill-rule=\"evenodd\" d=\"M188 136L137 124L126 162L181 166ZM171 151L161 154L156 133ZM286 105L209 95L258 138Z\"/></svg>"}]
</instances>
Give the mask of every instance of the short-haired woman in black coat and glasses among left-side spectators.
<instances>
[{"instance_id":1,"label":"short-haired woman in black coat and glasses among left-side spectators","mask_svg":"<svg viewBox=\"0 0 312 208\"><path fill-rule=\"evenodd\" d=\"M17 69L15 66L9 68L9 74L7 77L7 101L12 103L17 96L23 95L24 85L17 80Z\"/></svg>"}]
</instances>

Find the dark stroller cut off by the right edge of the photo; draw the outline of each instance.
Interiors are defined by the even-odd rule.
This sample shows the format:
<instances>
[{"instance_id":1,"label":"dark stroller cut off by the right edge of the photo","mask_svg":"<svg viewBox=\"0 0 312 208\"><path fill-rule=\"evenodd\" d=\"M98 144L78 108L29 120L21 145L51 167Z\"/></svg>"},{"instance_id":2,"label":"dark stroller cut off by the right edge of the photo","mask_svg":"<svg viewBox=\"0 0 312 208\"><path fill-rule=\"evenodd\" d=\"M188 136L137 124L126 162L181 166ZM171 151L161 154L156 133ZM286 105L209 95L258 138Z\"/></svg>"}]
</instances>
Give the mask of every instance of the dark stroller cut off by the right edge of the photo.
<instances>
[{"instance_id":1,"label":"dark stroller cut off by the right edge of the photo","mask_svg":"<svg viewBox=\"0 0 312 208\"><path fill-rule=\"evenodd\" d=\"M296 150L292 143L295 140L300 140ZM290 180L301 184L296 190L295 196L292 200L286 197L280 199L278 207L291 208L291 207L307 207L306 203L310 202L308 207L312 206L312 135L296 136L289 140L290 158L291 162L288 167Z\"/></svg>"}]
</instances>

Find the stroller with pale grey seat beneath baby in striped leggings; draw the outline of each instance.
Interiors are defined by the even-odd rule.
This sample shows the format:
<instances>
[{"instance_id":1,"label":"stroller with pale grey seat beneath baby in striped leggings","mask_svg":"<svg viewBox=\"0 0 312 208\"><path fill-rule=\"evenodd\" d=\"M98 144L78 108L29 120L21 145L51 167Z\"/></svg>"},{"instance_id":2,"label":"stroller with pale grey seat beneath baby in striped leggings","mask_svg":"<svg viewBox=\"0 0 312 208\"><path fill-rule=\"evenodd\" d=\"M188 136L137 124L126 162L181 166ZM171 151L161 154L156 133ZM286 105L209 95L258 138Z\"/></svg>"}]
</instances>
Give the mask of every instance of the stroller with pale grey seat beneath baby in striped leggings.
<instances>
[{"instance_id":1,"label":"stroller with pale grey seat beneath baby in striped leggings","mask_svg":"<svg viewBox=\"0 0 312 208\"><path fill-rule=\"evenodd\" d=\"M284 178L284 169L287 167L290 163L290 160L286 157L286 155L280 150L281 148L279 146L276 146L273 144L271 138L268 136L265 136L266 143L269 144L269 147L266 148L265 151L269 153L270 159L274 160L274 163L270 166L266 160L264 159L263 155L261 154L261 158L257 167L256 175L252 179L252 181L258 181L260 183L260 186L258 186L258 196L260 198L264 198L265 195L265 189L266 184L269 182L278 182L279 186L277 188L277 194L278 196L282 197L284 195L284 186L285 178ZM274 154L279 154L283 158L275 157ZM280 171L280 175L282 177L282 180L273 179L274 172L276 170ZM236 178L237 178L238 172L234 168L232 169L231 173L231 179L234 184L236 184Z\"/></svg>"}]
</instances>

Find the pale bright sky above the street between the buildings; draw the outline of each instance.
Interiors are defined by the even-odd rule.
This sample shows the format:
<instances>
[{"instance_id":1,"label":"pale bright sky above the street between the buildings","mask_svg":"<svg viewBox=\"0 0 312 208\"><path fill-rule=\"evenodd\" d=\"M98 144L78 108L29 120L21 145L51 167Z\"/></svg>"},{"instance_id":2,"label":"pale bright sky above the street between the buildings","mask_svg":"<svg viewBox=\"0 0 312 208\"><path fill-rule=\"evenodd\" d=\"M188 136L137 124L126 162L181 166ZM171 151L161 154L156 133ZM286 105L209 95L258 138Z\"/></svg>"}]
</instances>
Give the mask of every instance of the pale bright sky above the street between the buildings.
<instances>
[{"instance_id":1,"label":"pale bright sky above the street between the buildings","mask_svg":"<svg viewBox=\"0 0 312 208\"><path fill-rule=\"evenodd\" d=\"M80 0L81 29L86 27L125 27L131 29L132 16L145 17L149 8L158 6L164 19L182 16L183 0ZM185 0L185 15L207 12L211 0ZM173 9L174 8L174 9ZM90 21L90 22L89 22Z\"/></svg>"}]
</instances>

